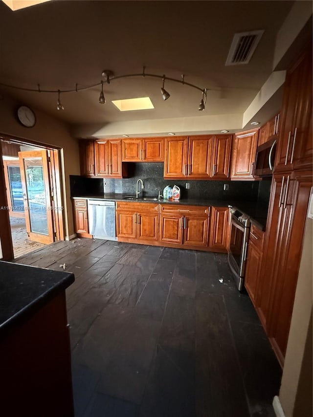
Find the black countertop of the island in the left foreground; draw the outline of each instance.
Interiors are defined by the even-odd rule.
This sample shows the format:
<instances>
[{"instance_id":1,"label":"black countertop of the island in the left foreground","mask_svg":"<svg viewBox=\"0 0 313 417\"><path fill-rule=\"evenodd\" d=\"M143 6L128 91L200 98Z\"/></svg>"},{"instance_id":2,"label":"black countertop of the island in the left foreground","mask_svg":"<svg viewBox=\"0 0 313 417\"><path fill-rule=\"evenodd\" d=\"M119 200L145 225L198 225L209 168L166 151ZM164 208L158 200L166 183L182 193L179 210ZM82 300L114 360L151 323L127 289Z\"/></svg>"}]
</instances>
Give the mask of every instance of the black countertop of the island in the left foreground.
<instances>
[{"instance_id":1,"label":"black countertop of the island in the left foreground","mask_svg":"<svg viewBox=\"0 0 313 417\"><path fill-rule=\"evenodd\" d=\"M0 336L74 280L72 272L0 261Z\"/></svg>"}]
</instances>

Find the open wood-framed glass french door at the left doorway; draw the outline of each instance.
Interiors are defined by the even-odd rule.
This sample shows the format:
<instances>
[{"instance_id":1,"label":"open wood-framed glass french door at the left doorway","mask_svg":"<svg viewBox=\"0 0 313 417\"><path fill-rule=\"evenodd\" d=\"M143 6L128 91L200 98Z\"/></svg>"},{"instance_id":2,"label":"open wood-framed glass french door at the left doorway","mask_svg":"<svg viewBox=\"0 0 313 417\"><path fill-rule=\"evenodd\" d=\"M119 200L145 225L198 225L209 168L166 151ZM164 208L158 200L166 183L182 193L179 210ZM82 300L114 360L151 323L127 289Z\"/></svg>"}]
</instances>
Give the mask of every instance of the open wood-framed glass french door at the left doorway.
<instances>
[{"instance_id":1,"label":"open wood-framed glass french door at the left doorway","mask_svg":"<svg viewBox=\"0 0 313 417\"><path fill-rule=\"evenodd\" d=\"M47 151L19 152L26 231L31 241L54 241Z\"/></svg>"}]
</instances>

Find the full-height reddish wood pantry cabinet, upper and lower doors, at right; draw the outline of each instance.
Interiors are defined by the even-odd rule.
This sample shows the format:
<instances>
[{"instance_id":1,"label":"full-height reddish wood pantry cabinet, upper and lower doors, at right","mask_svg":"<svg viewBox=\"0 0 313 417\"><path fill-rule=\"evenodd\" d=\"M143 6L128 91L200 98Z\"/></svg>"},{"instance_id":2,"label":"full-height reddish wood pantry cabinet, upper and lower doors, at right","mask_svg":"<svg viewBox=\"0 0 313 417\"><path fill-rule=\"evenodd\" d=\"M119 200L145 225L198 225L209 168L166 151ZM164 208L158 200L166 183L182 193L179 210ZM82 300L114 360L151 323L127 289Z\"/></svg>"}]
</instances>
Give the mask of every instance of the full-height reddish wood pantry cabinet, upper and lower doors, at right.
<instances>
[{"instance_id":1,"label":"full-height reddish wood pantry cabinet, upper and lower doors, at right","mask_svg":"<svg viewBox=\"0 0 313 417\"><path fill-rule=\"evenodd\" d=\"M283 365L312 188L312 45L288 70L256 307Z\"/></svg>"}]
</instances>

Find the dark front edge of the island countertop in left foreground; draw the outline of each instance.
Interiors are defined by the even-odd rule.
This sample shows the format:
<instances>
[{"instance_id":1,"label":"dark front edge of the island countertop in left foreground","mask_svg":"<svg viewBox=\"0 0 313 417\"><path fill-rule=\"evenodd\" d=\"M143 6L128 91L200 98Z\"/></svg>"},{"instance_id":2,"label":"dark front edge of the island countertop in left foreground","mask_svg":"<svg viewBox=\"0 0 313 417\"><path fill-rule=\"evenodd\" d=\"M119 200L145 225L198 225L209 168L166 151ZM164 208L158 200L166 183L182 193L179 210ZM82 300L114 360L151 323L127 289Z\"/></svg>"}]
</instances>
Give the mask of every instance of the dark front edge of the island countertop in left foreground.
<instances>
[{"instance_id":1,"label":"dark front edge of the island countertop in left foreground","mask_svg":"<svg viewBox=\"0 0 313 417\"><path fill-rule=\"evenodd\" d=\"M10 263L10 262L7 262L7 263ZM14 263L14 264L37 268L36 266L33 266L33 265L23 265L19 263ZM48 268L40 268L40 269L48 269ZM43 307L52 298L60 294L60 292L62 292L63 290L65 291L67 287L69 287L69 285L73 284L73 282L75 281L73 272L64 272L64 273L67 273L68 276L63 278L59 283L53 285L53 287L43 292L35 300L31 301L25 307L21 308L21 310L13 314L9 319L7 319L6 321L0 324L0 339L3 338L7 333L15 329L17 326L22 324L24 321L26 321L31 315L36 313L41 307Z\"/></svg>"}]
</instances>

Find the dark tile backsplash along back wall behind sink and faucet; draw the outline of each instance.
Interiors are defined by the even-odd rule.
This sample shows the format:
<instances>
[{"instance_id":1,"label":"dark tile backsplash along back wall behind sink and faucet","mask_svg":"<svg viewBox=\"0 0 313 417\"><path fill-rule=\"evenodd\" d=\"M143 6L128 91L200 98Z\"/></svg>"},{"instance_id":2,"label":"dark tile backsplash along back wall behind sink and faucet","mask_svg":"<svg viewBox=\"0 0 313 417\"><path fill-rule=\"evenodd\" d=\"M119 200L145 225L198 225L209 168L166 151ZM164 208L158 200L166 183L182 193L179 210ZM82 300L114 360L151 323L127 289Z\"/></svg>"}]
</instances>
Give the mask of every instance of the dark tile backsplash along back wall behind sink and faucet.
<instances>
[{"instance_id":1,"label":"dark tile backsplash along back wall behind sink and faucet","mask_svg":"<svg viewBox=\"0 0 313 417\"><path fill-rule=\"evenodd\" d=\"M179 186L181 198L256 201L258 196L268 197L268 186L261 187L260 193L259 181L164 179L162 162L129 163L128 175L128 178L123 179L70 176L71 196L101 196L103 193L135 195L136 181L141 178L144 184L143 195L146 197L156 197L156 187L162 193L166 185ZM107 183L106 186L104 181ZM186 182L190 184L189 190L186 189ZM227 191L224 191L224 184L228 185Z\"/></svg>"}]
</instances>

